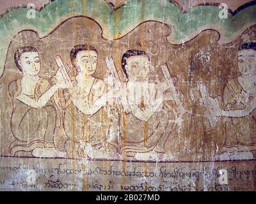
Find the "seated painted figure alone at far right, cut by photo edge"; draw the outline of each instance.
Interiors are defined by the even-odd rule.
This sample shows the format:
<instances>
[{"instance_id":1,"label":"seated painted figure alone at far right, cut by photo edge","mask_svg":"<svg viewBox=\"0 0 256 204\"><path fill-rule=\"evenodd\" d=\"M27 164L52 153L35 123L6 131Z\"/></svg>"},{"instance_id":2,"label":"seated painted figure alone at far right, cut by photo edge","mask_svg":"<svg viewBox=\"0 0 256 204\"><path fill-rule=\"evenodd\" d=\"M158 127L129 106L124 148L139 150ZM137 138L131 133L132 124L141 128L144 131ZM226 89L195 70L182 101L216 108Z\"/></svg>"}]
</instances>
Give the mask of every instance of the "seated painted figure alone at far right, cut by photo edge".
<instances>
[{"instance_id":1,"label":"seated painted figure alone at far right, cut by photo edge","mask_svg":"<svg viewBox=\"0 0 256 204\"><path fill-rule=\"evenodd\" d=\"M223 101L210 98L211 114L226 117L225 141L218 159L256 157L256 42L241 45L237 61L240 75L228 81Z\"/></svg>"}]
</instances>

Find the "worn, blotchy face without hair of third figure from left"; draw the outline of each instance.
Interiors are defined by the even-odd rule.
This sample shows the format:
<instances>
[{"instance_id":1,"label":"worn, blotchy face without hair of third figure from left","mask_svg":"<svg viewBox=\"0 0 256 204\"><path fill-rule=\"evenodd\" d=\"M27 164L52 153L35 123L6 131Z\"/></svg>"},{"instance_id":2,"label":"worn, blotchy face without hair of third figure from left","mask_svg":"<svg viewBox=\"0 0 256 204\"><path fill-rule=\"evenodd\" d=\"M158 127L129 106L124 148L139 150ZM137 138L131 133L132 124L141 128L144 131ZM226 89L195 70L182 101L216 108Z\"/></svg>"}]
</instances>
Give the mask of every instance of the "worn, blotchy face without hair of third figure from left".
<instances>
[{"instance_id":1,"label":"worn, blotchy face without hair of third figure from left","mask_svg":"<svg viewBox=\"0 0 256 204\"><path fill-rule=\"evenodd\" d=\"M144 81L148 79L149 60L145 56L132 56L126 60L125 69L129 80Z\"/></svg>"}]
</instances>

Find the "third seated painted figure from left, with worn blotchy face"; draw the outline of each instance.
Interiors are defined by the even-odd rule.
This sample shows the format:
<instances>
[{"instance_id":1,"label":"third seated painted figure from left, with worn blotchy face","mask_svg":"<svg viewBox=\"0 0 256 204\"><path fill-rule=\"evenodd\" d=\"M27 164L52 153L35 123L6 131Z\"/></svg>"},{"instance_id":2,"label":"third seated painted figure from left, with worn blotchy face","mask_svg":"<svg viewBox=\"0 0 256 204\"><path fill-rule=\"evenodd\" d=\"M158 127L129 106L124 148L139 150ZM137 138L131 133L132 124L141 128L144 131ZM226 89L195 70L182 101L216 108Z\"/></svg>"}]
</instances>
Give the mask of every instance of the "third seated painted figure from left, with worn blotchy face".
<instances>
[{"instance_id":1,"label":"third seated painted figure from left, with worn blotchy face","mask_svg":"<svg viewBox=\"0 0 256 204\"><path fill-rule=\"evenodd\" d=\"M156 160L157 153L166 152L166 140L179 119L179 107L169 103L177 93L163 88L172 79L164 83L150 80L150 57L140 50L128 50L122 56L122 68L128 81L121 91L121 134L116 143L123 156Z\"/></svg>"}]
</instances>

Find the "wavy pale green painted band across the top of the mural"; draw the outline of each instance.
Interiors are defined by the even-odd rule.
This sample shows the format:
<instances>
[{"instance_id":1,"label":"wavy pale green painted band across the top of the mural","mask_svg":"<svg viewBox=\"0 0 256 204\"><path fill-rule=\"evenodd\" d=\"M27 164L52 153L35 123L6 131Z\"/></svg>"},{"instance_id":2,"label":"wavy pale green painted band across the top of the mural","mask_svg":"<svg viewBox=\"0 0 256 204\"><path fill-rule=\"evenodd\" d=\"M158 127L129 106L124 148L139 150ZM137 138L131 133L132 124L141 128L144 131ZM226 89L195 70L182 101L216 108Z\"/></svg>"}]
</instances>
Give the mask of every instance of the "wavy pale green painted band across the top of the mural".
<instances>
[{"instance_id":1,"label":"wavy pale green painted band across the top of the mural","mask_svg":"<svg viewBox=\"0 0 256 204\"><path fill-rule=\"evenodd\" d=\"M35 19L26 17L28 8L16 8L0 18L0 76L3 74L6 53L15 34L29 29L40 38L51 33L64 20L76 16L93 18L102 27L102 36L108 40L121 38L147 20L170 25L170 43L191 40L205 29L220 33L219 43L235 40L248 27L256 24L256 5L248 6L227 19L220 19L218 6L195 6L187 13L168 0L127 0L124 6L113 10L104 0L56 0L36 11Z\"/></svg>"}]
</instances>

